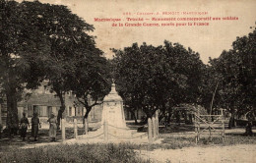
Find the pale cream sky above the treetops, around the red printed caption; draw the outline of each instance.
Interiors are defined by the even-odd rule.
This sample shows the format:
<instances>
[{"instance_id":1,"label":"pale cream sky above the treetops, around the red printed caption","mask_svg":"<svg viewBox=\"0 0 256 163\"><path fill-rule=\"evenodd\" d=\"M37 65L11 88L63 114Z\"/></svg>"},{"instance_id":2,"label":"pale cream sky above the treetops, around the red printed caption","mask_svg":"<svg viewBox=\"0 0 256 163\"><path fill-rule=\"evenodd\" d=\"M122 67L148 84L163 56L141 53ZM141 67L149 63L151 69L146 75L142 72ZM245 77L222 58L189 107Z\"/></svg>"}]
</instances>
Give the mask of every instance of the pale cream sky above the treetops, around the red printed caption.
<instances>
[{"instance_id":1,"label":"pale cream sky above the treetops, around the red printed caption","mask_svg":"<svg viewBox=\"0 0 256 163\"><path fill-rule=\"evenodd\" d=\"M247 35L256 22L255 0L39 0L42 3L65 5L87 23L96 28L90 34L96 36L96 46L107 58L114 54L110 48L123 49L132 43L163 45L164 40L178 42L200 54L207 64L209 57L217 58L223 50L231 48L236 36ZM126 16L123 13L130 12ZM184 15L161 15L162 12L207 12L207 15L189 17L237 17L236 21L210 21L207 27L111 27L109 22L95 22L95 18L151 19L155 16L141 16L137 13L160 13L158 18L187 17ZM204 21L203 21L204 22ZM141 23L141 22L139 22ZM144 23L144 22L143 22ZM146 23L153 23L146 21ZM159 22L161 24L161 22ZM164 22L166 23L166 22ZM178 23L178 22L174 22Z\"/></svg>"}]
</instances>

